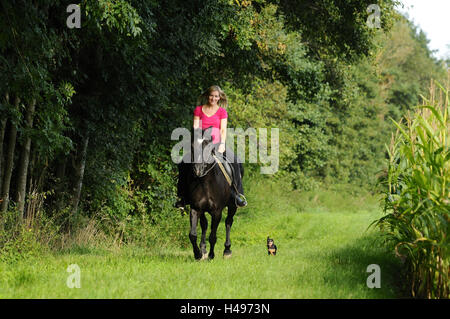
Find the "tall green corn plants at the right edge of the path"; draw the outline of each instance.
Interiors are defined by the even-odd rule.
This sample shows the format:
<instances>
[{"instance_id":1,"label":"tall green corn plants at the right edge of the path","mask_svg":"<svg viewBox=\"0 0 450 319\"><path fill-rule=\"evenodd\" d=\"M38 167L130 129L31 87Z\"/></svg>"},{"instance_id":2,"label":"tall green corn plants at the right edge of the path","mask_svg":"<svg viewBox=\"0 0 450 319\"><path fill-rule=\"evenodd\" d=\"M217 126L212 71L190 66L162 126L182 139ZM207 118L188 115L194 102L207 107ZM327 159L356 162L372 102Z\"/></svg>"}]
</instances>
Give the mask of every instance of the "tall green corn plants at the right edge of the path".
<instances>
[{"instance_id":1,"label":"tall green corn plants at the right edge of the path","mask_svg":"<svg viewBox=\"0 0 450 319\"><path fill-rule=\"evenodd\" d=\"M381 179L385 215L375 221L418 298L449 298L449 90L437 86L432 83L430 98L422 97L413 114L394 121Z\"/></svg>"}]
</instances>

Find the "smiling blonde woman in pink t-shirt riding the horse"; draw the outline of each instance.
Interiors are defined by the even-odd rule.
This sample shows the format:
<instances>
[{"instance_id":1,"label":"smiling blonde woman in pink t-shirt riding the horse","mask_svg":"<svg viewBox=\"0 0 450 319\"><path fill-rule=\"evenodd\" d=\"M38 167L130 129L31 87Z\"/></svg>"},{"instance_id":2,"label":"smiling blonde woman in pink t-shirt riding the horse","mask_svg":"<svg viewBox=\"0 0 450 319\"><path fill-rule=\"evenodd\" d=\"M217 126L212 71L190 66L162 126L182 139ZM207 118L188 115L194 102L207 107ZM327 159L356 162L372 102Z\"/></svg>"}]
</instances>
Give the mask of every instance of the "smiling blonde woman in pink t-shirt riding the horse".
<instances>
[{"instance_id":1,"label":"smiling blonde woman in pink t-shirt riding the horse","mask_svg":"<svg viewBox=\"0 0 450 319\"><path fill-rule=\"evenodd\" d=\"M209 87L201 96L200 103L194 110L194 129L206 129L212 126L212 141L217 155L222 155L224 158L231 160L231 165L234 171L232 176L234 187L232 186L231 196L234 197L235 203L238 207L244 207L247 205L245 197L243 196L244 190L242 187L241 179L241 165L238 163L236 155L225 147L225 141L227 138L227 118L228 114L225 108L228 105L228 99L225 92L222 91L217 85ZM228 156L227 156L228 155ZM178 177L178 192L179 200L175 204L175 207L184 209L184 206L188 203L188 196L186 194L186 176L187 170L190 168L186 163L181 162L179 164L179 177Z\"/></svg>"}]
</instances>

